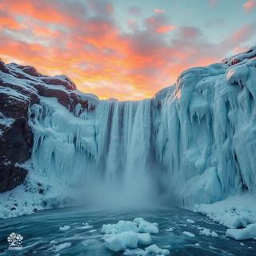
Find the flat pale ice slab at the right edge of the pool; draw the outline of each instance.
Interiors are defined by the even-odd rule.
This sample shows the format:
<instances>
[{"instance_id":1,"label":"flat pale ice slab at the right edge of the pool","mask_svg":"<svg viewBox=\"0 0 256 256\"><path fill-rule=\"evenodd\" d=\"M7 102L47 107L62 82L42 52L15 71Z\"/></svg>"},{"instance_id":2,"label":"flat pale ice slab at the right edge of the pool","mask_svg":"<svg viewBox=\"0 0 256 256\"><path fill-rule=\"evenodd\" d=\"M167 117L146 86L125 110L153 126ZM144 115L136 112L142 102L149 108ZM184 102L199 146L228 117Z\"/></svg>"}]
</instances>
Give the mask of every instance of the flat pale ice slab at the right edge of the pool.
<instances>
[{"instance_id":1,"label":"flat pale ice slab at the right edge of the pool","mask_svg":"<svg viewBox=\"0 0 256 256\"><path fill-rule=\"evenodd\" d=\"M256 223L249 224L244 229L228 229L226 236L235 240L246 240L256 238Z\"/></svg>"}]
</instances>

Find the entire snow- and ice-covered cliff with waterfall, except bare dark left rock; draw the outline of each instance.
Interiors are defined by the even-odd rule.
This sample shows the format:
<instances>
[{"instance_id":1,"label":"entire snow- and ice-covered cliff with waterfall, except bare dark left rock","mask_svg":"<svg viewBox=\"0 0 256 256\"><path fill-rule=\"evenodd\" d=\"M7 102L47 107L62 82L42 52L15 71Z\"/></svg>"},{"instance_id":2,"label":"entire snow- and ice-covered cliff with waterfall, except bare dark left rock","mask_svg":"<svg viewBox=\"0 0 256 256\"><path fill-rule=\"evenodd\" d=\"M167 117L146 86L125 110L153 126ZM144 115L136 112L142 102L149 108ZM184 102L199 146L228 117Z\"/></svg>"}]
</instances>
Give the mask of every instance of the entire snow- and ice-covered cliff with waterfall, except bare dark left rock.
<instances>
[{"instance_id":1,"label":"entire snow- and ice-covered cliff with waterfall, except bare dark left rock","mask_svg":"<svg viewBox=\"0 0 256 256\"><path fill-rule=\"evenodd\" d=\"M30 160L12 163L28 174L0 194L2 216L10 216L10 198L15 216L74 198L192 206L255 193L256 47L186 70L174 86L139 102L101 101L66 77L26 70L2 63L0 71L0 93L27 99L34 136ZM0 110L7 126L10 116Z\"/></svg>"}]
</instances>

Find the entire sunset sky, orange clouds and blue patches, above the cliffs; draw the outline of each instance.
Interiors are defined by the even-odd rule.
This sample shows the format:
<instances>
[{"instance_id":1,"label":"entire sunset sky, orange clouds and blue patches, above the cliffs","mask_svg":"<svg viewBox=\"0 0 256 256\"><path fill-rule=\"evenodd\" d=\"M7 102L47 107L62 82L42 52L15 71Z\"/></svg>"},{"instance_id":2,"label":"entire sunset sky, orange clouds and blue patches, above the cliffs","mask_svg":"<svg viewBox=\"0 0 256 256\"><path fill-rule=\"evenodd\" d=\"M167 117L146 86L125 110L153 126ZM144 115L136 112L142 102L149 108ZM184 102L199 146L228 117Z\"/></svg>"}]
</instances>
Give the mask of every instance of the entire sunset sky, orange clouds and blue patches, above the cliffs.
<instances>
[{"instance_id":1,"label":"entire sunset sky, orange clouds and blue patches, above the cliffs","mask_svg":"<svg viewBox=\"0 0 256 256\"><path fill-rule=\"evenodd\" d=\"M256 0L0 0L0 58L99 98L150 98L256 45Z\"/></svg>"}]
</instances>

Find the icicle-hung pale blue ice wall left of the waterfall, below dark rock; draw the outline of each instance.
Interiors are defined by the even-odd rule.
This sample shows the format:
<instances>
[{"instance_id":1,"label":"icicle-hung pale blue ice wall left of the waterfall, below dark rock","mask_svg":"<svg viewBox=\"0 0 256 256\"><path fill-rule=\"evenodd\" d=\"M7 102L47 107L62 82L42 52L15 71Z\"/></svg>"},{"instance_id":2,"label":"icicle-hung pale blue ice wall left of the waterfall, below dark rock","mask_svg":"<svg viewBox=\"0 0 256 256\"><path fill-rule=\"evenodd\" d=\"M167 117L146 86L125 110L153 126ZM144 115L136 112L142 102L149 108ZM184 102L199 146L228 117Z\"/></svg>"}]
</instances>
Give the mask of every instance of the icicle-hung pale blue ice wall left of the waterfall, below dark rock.
<instances>
[{"instance_id":1,"label":"icicle-hung pale blue ice wall left of the waterfall, below dark rock","mask_svg":"<svg viewBox=\"0 0 256 256\"><path fill-rule=\"evenodd\" d=\"M86 112L75 117L56 98L41 98L31 108L34 130L33 162L49 178L76 185L96 158L94 122ZM83 169L83 171L82 171Z\"/></svg>"}]
</instances>

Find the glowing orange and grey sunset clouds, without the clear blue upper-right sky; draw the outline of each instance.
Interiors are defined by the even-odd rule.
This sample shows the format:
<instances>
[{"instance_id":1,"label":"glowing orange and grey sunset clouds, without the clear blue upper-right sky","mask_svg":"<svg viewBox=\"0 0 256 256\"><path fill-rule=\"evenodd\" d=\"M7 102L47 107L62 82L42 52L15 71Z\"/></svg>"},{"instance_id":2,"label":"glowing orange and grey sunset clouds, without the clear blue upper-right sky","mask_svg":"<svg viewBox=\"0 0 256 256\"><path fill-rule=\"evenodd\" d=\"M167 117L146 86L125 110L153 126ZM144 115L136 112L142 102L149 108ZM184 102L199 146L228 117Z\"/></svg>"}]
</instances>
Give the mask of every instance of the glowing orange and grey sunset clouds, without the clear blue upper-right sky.
<instances>
[{"instance_id":1,"label":"glowing orange and grey sunset clouds, without the clear blue upper-right sky","mask_svg":"<svg viewBox=\"0 0 256 256\"><path fill-rule=\"evenodd\" d=\"M134 99L152 96L190 66L221 60L256 32L255 24L245 25L212 43L199 27L173 24L164 12L129 11L127 32L109 1L3 0L0 55L42 73L67 74L101 98Z\"/></svg>"}]
</instances>

